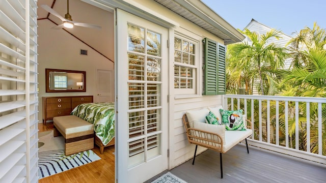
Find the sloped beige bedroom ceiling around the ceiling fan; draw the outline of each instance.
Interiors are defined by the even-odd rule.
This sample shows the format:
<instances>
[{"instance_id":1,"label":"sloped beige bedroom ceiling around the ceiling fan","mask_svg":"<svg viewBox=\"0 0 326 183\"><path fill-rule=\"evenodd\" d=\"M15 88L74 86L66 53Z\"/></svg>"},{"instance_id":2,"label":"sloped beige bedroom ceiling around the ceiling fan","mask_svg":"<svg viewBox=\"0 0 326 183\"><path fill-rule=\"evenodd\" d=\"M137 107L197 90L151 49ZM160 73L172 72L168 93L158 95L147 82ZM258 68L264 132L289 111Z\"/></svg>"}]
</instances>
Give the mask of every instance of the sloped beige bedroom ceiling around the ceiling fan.
<instances>
[{"instance_id":1,"label":"sloped beige bedroom ceiling around the ceiling fan","mask_svg":"<svg viewBox=\"0 0 326 183\"><path fill-rule=\"evenodd\" d=\"M47 5L59 13L62 17L65 17L65 14L67 13L67 0L38 0L37 5L38 21L50 21L53 24L53 27L57 24L62 24L62 21L58 17L49 14L47 11L41 8L41 5ZM84 42L110 60L114 60L113 11L100 9L80 0L69 0L69 14L71 15L73 21L96 24L102 28L99 30L74 26L73 28L65 28L67 34L70 34L76 39ZM51 29L48 36L51 36L51 31L65 30Z\"/></svg>"}]
</instances>

